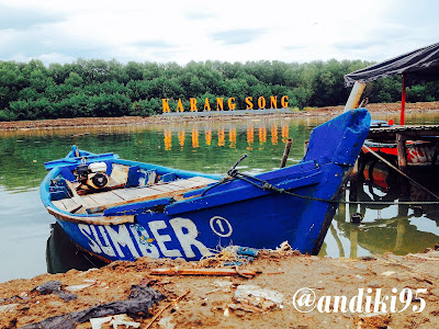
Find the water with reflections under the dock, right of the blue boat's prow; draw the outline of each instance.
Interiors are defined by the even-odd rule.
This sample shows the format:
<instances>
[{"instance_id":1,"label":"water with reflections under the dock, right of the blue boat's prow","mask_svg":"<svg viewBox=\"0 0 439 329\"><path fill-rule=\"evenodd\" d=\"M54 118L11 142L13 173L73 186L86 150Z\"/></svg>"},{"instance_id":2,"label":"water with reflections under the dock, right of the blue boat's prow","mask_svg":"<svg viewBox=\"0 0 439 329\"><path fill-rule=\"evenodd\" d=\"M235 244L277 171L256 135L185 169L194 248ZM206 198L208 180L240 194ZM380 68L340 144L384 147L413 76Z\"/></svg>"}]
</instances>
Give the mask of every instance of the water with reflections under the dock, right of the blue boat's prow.
<instances>
[{"instance_id":1,"label":"water with reflections under the dock, right of the blue boat's prow","mask_svg":"<svg viewBox=\"0 0 439 329\"><path fill-rule=\"evenodd\" d=\"M438 192L438 184L431 183L429 177L417 177L417 181ZM357 258L384 252L407 254L423 252L439 243L439 208L432 196L407 181L394 178L393 182L387 188L365 182L354 192L358 193L358 200L363 202L420 201L431 204L340 204L320 256ZM402 191L404 185L408 185L408 195ZM352 192L352 186L346 191L346 200ZM351 223L350 216L354 213L363 215L361 224Z\"/></svg>"}]
</instances>

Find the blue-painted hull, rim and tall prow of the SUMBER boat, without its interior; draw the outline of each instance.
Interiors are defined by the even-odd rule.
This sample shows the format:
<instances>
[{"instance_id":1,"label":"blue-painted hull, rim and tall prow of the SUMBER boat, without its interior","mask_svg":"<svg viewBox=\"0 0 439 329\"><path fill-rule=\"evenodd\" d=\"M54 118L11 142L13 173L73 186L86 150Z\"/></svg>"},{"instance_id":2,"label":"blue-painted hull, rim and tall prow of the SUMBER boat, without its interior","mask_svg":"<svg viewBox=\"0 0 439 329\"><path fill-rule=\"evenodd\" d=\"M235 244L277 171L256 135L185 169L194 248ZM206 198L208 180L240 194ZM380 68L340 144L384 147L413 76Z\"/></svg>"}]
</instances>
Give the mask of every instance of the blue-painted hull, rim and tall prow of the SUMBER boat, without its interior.
<instances>
[{"instance_id":1,"label":"blue-painted hull, rim and tall prow of the SUMBER boat, without its interior","mask_svg":"<svg viewBox=\"0 0 439 329\"><path fill-rule=\"evenodd\" d=\"M103 214L81 215L58 211L57 220L79 246L108 260L184 258L199 260L222 247L243 246L254 249L275 248L288 241L293 249L316 254L337 208L347 172L354 163L368 135L370 115L364 109L352 110L318 127L312 135L304 160L295 166L257 174L278 189L303 195L262 190L239 179L209 190L189 192L188 200L170 197L137 202L106 209ZM131 166L128 184L139 184L155 171L167 180L205 177L202 174L149 163L117 159L116 156L80 151L89 161L104 160ZM65 168L80 163L75 149L64 159L48 162L52 169L41 184L46 207L54 207L53 179L67 178ZM68 174L67 174L68 175ZM140 188L142 189L142 188ZM313 200L314 198L314 200ZM134 216L134 223L91 225L66 222L63 216L87 222L105 216ZM254 250L248 249L248 250ZM246 249L243 249L246 250Z\"/></svg>"}]
</instances>

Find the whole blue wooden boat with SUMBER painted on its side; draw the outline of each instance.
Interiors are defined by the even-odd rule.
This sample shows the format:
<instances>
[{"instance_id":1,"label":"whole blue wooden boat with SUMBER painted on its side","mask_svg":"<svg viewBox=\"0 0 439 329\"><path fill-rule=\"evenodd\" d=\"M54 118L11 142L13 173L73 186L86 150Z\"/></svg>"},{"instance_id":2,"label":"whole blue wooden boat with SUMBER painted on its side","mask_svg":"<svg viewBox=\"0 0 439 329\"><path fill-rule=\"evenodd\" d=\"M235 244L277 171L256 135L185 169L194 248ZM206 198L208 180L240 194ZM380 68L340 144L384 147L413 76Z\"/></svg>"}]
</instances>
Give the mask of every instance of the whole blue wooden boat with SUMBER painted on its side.
<instances>
[{"instance_id":1,"label":"whole blue wooden boat with SUMBER painted on its side","mask_svg":"<svg viewBox=\"0 0 439 329\"><path fill-rule=\"evenodd\" d=\"M72 146L46 162L47 211L79 247L106 260L199 260L229 245L288 241L318 253L370 126L365 109L316 127L295 166L247 175L203 174Z\"/></svg>"}]
</instances>

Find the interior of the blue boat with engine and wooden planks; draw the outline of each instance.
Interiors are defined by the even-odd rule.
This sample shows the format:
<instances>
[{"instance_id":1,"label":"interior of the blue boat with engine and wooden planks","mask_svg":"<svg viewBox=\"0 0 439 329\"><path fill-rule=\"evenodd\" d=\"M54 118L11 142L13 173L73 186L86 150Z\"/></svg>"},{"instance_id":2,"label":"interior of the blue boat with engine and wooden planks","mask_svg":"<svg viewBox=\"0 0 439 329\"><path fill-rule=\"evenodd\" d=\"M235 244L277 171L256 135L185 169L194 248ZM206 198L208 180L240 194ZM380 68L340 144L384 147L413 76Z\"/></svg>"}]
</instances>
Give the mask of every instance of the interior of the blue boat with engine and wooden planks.
<instances>
[{"instance_id":1,"label":"interior of the blue boat with engine and wooden planks","mask_svg":"<svg viewBox=\"0 0 439 329\"><path fill-rule=\"evenodd\" d=\"M130 211L136 205L138 208L157 208L160 205L164 207L176 200L181 201L201 194L201 192L192 194L188 192L217 183L217 180L212 178L189 177L179 174L178 171L165 173L162 170L114 161L95 164L95 169L87 169L82 174L78 172L79 166L60 167L59 173L50 180L48 189L52 204L70 214L115 215L126 211L128 204ZM97 175L99 178L93 180Z\"/></svg>"}]
</instances>

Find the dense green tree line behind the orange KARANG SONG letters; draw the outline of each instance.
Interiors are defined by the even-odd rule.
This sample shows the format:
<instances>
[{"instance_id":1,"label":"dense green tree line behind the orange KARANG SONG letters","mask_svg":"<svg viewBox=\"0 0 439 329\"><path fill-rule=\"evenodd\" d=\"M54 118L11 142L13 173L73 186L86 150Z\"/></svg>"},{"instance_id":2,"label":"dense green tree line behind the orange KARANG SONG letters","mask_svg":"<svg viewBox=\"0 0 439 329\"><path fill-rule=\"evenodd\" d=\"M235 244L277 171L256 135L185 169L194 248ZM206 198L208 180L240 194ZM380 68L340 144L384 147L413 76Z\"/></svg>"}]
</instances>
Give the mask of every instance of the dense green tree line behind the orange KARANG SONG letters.
<instances>
[{"instance_id":1,"label":"dense green tree line behind the orange KARANG SONG letters","mask_svg":"<svg viewBox=\"0 0 439 329\"><path fill-rule=\"evenodd\" d=\"M235 98L236 109L246 109L245 98L289 97L289 107L344 104L350 89L344 75L373 63L331 59L306 64L282 61L191 61L121 64L116 60L78 59L70 64L0 61L0 121L78 116L148 116L161 113L162 99L176 111L181 99L189 111L190 98ZM370 102L401 99L401 78L369 83ZM407 101L439 100L438 82L414 86Z\"/></svg>"}]
</instances>

